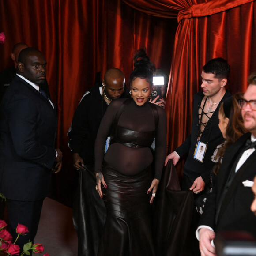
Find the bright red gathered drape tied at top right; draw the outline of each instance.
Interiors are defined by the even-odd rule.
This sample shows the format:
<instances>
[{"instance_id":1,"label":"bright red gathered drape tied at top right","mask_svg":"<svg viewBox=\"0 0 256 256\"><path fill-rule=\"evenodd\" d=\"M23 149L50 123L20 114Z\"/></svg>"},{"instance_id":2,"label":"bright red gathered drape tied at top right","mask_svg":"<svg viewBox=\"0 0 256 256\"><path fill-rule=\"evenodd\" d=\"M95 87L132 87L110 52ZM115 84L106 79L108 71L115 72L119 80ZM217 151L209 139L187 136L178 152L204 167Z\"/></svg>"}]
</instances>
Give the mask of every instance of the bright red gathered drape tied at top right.
<instances>
[{"instance_id":1,"label":"bright red gathered drape tied at top right","mask_svg":"<svg viewBox=\"0 0 256 256\"><path fill-rule=\"evenodd\" d=\"M170 153L190 132L193 95L200 90L200 73L208 60L228 60L227 88L232 93L246 90L247 76L256 70L256 4L252 0L123 1L151 15L177 16L179 22L166 99Z\"/></svg>"}]
</instances>

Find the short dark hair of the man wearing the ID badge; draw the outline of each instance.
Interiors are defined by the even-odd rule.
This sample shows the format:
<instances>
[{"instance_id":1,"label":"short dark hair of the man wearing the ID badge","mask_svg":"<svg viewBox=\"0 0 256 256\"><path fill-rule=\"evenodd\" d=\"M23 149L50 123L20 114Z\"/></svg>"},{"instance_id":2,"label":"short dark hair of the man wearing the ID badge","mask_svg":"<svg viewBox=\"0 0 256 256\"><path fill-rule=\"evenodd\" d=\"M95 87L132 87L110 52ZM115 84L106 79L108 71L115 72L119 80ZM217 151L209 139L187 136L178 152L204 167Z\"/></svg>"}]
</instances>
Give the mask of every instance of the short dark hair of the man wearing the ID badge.
<instances>
[{"instance_id":1,"label":"short dark hair of the man wearing the ID badge","mask_svg":"<svg viewBox=\"0 0 256 256\"><path fill-rule=\"evenodd\" d=\"M230 75L230 65L222 58L211 59L203 66L203 71L207 74L214 74L215 78L228 79Z\"/></svg>"}]
</instances>

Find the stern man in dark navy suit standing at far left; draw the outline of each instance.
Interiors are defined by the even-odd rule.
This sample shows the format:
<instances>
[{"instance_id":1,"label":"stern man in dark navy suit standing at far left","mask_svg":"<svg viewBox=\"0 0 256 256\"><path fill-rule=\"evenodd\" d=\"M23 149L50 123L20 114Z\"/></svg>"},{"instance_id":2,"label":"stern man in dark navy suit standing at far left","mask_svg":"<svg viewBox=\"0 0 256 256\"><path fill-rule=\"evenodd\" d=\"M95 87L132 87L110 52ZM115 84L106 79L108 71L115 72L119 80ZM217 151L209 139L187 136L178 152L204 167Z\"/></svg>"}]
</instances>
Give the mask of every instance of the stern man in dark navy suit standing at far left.
<instances>
[{"instance_id":1,"label":"stern man in dark navy suit standing at far left","mask_svg":"<svg viewBox=\"0 0 256 256\"><path fill-rule=\"evenodd\" d=\"M41 207L50 189L51 174L61 169L55 149L56 108L43 90L46 60L34 48L19 54L17 75L2 99L0 113L0 192L7 198L10 233L23 224L29 233L17 244L34 240Z\"/></svg>"}]
</instances>

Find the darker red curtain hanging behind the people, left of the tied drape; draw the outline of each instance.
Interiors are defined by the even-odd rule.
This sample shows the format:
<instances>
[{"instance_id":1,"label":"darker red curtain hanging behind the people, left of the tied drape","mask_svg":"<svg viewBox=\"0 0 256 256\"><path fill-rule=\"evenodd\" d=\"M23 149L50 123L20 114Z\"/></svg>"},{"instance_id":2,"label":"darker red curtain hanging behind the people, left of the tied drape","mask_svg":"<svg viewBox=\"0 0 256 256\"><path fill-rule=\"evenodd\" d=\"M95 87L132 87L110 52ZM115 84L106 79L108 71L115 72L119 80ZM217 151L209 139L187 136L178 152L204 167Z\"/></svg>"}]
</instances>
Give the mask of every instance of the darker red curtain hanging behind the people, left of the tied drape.
<instances>
[{"instance_id":1,"label":"darker red curtain hanging behind the people, left of the tied drape","mask_svg":"<svg viewBox=\"0 0 256 256\"><path fill-rule=\"evenodd\" d=\"M0 0L0 70L10 67L17 42L40 49L46 57L47 80L59 117L57 146L64 153L63 170L53 175L52 196L69 202L75 169L67 147L74 111L97 72L124 71L126 82L136 49L146 47L158 68L170 71L177 19L147 15L121 0ZM74 183L74 184L73 184Z\"/></svg>"}]
</instances>

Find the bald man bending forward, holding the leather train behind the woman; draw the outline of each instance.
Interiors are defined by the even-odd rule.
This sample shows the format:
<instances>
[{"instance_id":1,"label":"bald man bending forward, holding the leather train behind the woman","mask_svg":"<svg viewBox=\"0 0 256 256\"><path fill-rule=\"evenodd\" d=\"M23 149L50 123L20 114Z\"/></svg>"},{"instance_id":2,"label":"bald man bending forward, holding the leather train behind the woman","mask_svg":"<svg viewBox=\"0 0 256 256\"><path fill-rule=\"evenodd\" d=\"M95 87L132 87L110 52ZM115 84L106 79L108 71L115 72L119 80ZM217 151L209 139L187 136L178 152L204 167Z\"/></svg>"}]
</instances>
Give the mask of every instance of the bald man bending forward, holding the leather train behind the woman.
<instances>
[{"instance_id":1,"label":"bald man bending forward, holding the leather train behind the woman","mask_svg":"<svg viewBox=\"0 0 256 256\"><path fill-rule=\"evenodd\" d=\"M124 73L118 68L105 72L82 97L68 131L74 167L79 171L79 185L73 207L73 221L78 234L78 255L97 255L100 234L105 223L105 205L95 189L94 143L102 117L110 102L128 98Z\"/></svg>"}]
</instances>

